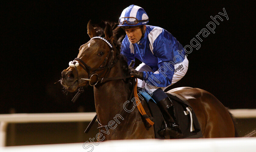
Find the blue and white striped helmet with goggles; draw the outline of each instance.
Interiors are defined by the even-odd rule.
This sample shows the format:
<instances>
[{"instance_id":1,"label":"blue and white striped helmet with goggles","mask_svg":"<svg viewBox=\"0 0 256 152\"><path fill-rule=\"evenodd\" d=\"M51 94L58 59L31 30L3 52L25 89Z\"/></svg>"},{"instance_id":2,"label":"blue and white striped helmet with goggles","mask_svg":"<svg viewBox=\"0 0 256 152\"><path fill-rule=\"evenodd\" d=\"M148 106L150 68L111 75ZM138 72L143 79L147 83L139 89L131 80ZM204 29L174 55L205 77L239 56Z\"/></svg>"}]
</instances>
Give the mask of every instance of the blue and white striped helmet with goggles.
<instances>
[{"instance_id":1,"label":"blue and white striped helmet with goggles","mask_svg":"<svg viewBox=\"0 0 256 152\"><path fill-rule=\"evenodd\" d=\"M137 5L130 5L123 10L119 18L119 26L129 28L130 26L141 26L148 23L148 15L144 9ZM126 27L127 26L127 27Z\"/></svg>"}]
</instances>

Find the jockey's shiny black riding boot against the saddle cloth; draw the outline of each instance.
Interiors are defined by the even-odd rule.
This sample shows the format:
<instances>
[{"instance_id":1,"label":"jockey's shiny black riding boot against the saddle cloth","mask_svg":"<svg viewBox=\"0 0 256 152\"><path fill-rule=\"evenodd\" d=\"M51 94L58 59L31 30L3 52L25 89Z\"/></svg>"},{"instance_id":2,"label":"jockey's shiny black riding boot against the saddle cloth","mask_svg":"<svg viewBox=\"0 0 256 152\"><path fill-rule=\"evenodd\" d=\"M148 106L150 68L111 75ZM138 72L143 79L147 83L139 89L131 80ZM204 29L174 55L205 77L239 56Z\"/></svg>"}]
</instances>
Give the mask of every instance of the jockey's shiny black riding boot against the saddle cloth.
<instances>
[{"instance_id":1,"label":"jockey's shiny black riding boot against the saddle cloth","mask_svg":"<svg viewBox=\"0 0 256 152\"><path fill-rule=\"evenodd\" d=\"M167 121L166 130L161 130L158 132L159 135L171 136L172 138L182 138L183 134L180 130L180 125L176 122L175 111L173 108L173 103L169 97L162 99L157 103L158 107L162 111L164 119Z\"/></svg>"}]
</instances>

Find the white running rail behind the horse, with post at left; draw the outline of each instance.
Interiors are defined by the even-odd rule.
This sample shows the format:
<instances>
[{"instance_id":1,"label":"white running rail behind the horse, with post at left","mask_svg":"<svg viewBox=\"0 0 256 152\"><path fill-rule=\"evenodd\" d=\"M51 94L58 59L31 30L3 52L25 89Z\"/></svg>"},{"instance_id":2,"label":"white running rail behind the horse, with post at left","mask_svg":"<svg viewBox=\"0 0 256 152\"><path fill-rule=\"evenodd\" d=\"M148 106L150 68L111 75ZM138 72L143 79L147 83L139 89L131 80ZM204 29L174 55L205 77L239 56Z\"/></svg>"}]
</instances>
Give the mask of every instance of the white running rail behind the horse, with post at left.
<instances>
[{"instance_id":1,"label":"white running rail behind the horse, with post at left","mask_svg":"<svg viewBox=\"0 0 256 152\"><path fill-rule=\"evenodd\" d=\"M230 109L235 118L256 118L256 109ZM8 123L48 123L91 121L96 112L0 114L0 147L6 145Z\"/></svg>"}]
</instances>

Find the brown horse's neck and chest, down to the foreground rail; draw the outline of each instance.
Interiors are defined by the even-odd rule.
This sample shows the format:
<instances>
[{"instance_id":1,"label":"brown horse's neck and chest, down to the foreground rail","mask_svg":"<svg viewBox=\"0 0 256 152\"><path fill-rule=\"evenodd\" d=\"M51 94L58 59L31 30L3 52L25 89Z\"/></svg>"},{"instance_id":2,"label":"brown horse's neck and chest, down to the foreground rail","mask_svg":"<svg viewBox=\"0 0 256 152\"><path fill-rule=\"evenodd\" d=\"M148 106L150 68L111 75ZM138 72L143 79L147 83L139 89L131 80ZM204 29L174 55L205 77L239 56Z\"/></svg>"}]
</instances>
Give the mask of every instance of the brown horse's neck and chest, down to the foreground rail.
<instances>
[{"instance_id":1,"label":"brown horse's neck and chest, down to the foreground rail","mask_svg":"<svg viewBox=\"0 0 256 152\"><path fill-rule=\"evenodd\" d=\"M109 77L114 78L121 76L126 76L126 74L122 73L121 64L119 62L111 69ZM103 85L94 86L95 108L99 122L102 125L108 125L110 121L114 121L117 124L114 118L116 118L118 114L124 119L118 124L116 129L107 130L108 127L100 129L100 131L104 130L110 133L104 134L106 137L105 140L145 139L155 137L154 127L146 128L144 126L138 110L122 114L124 111L123 104L129 100L130 95L129 84L123 80L113 80ZM132 109L131 106L133 106L133 104L126 107ZM150 113L148 108L146 108L145 111Z\"/></svg>"}]
</instances>

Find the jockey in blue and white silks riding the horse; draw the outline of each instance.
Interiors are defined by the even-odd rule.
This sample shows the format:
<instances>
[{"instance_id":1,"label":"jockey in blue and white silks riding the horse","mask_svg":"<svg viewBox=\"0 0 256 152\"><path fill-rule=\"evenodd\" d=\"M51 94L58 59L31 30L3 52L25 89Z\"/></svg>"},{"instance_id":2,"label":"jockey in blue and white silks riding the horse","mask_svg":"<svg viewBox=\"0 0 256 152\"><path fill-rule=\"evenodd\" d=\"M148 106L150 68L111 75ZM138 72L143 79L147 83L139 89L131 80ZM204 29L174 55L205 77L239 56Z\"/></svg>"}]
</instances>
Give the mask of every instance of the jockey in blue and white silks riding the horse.
<instances>
[{"instance_id":1,"label":"jockey in blue and white silks riding the horse","mask_svg":"<svg viewBox=\"0 0 256 152\"><path fill-rule=\"evenodd\" d=\"M126 36L122 42L121 54L126 56L128 65L135 57L142 62L136 69L130 69L130 75L138 78L138 87L145 87L156 101L167 120L166 131L179 138L182 133L173 103L163 90L186 74L187 55L171 33L157 26L146 25L147 23L148 15L141 7L130 5L123 10L119 26L125 30Z\"/></svg>"}]
</instances>

